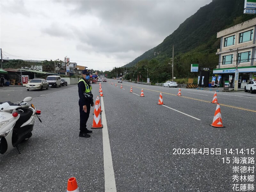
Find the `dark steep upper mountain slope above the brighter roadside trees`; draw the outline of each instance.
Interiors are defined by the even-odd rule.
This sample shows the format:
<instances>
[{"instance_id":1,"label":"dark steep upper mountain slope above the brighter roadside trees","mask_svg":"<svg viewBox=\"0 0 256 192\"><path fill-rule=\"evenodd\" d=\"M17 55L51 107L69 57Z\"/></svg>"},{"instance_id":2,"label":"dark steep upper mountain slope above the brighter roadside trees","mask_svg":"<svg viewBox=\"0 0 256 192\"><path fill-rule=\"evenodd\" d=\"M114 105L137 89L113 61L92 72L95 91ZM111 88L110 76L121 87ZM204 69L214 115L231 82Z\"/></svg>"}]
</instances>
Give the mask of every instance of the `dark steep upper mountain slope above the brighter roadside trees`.
<instances>
[{"instance_id":1,"label":"dark steep upper mountain slope above the brighter roadside trees","mask_svg":"<svg viewBox=\"0 0 256 192\"><path fill-rule=\"evenodd\" d=\"M180 24L179 28L167 36L161 44L124 67L134 66L140 60L155 58L162 62L166 58L171 58L172 44L174 44L174 55L204 50L215 53L220 47L220 40L216 38L218 31L255 17L244 14L243 10L244 0L213 0ZM217 56L215 59L212 62L218 62Z\"/></svg>"}]
</instances>

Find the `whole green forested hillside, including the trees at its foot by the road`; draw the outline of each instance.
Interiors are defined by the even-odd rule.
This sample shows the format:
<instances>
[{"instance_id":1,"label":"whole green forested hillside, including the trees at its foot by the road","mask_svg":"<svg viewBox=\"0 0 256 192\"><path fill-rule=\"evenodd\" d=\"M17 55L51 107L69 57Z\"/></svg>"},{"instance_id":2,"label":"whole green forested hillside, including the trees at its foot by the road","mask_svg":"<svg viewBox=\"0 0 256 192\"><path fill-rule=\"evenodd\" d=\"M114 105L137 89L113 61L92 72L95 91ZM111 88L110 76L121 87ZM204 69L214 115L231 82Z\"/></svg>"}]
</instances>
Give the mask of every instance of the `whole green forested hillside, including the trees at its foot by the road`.
<instances>
[{"instance_id":1,"label":"whole green forested hillside, including the trees at its foot by the road","mask_svg":"<svg viewBox=\"0 0 256 192\"><path fill-rule=\"evenodd\" d=\"M174 76L176 78L193 77L197 73L190 72L190 65L198 63L199 67L216 68L219 56L215 53L220 48L217 32L238 23L252 19L255 15L244 14L244 0L213 0L201 7L194 15L186 19L179 28L156 47L123 67L139 66L138 72L149 76L160 75L154 81L165 81L172 76L170 66L172 45L174 44ZM168 23L168 20L166 21ZM122 68L123 68L122 67ZM137 68L129 68L127 78L136 79ZM142 72L143 71L143 72ZM163 75L164 74L164 75ZM134 76L134 77L133 77ZM145 76L142 79L146 79Z\"/></svg>"}]
</instances>

